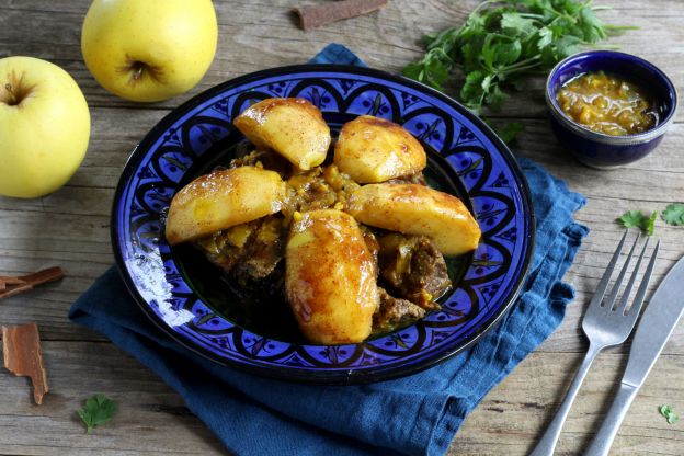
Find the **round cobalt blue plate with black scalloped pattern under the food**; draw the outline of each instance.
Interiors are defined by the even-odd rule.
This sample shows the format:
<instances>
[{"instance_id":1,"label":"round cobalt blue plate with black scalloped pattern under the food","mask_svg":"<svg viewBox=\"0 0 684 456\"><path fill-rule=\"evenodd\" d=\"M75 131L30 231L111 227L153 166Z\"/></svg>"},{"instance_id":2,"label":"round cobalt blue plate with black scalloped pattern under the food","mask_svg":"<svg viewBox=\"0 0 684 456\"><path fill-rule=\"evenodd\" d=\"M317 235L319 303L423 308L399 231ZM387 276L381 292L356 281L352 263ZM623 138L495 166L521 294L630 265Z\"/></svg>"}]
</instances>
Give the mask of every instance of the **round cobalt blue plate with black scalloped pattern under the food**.
<instances>
[{"instance_id":1,"label":"round cobalt blue plate with black scalloped pattern under the food","mask_svg":"<svg viewBox=\"0 0 684 456\"><path fill-rule=\"evenodd\" d=\"M262 318L253 318L251 304L201 254L169 247L162 219L174 193L226 163L236 150L244 150L246 139L232 127L232 118L272 96L309 100L333 132L357 115L372 114L403 125L423 142L429 183L461 197L482 228L475 253L449 261L456 286L441 299L442 310L364 343L308 344L289 331L286 305L274 306L285 312L259 310ZM119 271L141 309L186 347L260 375L349 384L423 369L490 329L525 278L534 248L532 210L524 176L509 149L454 100L377 70L305 65L225 82L155 126L118 183L112 242Z\"/></svg>"}]
</instances>

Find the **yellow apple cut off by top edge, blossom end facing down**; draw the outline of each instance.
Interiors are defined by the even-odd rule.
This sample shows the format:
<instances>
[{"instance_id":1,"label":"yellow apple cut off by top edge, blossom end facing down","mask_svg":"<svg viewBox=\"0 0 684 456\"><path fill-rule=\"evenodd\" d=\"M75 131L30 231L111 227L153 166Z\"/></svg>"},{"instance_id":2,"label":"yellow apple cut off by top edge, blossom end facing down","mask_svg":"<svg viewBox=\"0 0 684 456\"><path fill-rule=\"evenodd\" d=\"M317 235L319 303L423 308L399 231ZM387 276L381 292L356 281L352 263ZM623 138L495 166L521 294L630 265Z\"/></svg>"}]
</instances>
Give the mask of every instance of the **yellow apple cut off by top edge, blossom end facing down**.
<instances>
[{"instance_id":1,"label":"yellow apple cut off by top edge, blossom end facing down","mask_svg":"<svg viewBox=\"0 0 684 456\"><path fill-rule=\"evenodd\" d=\"M212 65L217 38L210 0L94 0L81 52L106 90L152 102L195 87Z\"/></svg>"}]
</instances>

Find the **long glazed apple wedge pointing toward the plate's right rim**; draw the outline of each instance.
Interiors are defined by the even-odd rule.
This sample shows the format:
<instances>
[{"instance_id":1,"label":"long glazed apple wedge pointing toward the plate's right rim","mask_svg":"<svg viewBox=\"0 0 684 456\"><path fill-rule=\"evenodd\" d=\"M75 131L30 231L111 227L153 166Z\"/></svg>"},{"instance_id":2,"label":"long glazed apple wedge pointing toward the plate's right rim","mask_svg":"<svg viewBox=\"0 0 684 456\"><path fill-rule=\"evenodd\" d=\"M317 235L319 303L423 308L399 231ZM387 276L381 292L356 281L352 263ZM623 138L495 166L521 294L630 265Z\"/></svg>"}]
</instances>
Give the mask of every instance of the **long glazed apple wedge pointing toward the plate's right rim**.
<instances>
[{"instance_id":1,"label":"long glazed apple wedge pointing toward the plate's right rim","mask_svg":"<svg viewBox=\"0 0 684 456\"><path fill-rule=\"evenodd\" d=\"M474 250L481 235L460 200L424 185L364 185L350 196L347 212L362 224L428 236L445 255Z\"/></svg>"}]
</instances>

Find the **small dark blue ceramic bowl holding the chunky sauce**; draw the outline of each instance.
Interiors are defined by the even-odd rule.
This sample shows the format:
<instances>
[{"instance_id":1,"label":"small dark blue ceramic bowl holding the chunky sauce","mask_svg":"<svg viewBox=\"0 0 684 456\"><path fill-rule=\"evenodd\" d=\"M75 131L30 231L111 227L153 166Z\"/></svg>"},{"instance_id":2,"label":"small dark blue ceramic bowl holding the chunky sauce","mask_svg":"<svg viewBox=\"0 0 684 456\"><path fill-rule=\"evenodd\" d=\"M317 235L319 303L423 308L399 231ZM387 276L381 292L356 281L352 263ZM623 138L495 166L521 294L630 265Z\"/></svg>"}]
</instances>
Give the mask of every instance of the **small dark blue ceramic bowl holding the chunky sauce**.
<instances>
[{"instance_id":1,"label":"small dark blue ceramic bowl holding the chunky sauce","mask_svg":"<svg viewBox=\"0 0 684 456\"><path fill-rule=\"evenodd\" d=\"M624 77L650 92L659 114L656 127L636 135L611 136L578 124L560 109L556 93L566 82L602 70ZM665 73L642 58L614 50L590 50L556 65L546 81L546 104L551 113L551 127L560 142L582 163L611 169L637 161L658 146L674 119L677 98Z\"/></svg>"}]
</instances>

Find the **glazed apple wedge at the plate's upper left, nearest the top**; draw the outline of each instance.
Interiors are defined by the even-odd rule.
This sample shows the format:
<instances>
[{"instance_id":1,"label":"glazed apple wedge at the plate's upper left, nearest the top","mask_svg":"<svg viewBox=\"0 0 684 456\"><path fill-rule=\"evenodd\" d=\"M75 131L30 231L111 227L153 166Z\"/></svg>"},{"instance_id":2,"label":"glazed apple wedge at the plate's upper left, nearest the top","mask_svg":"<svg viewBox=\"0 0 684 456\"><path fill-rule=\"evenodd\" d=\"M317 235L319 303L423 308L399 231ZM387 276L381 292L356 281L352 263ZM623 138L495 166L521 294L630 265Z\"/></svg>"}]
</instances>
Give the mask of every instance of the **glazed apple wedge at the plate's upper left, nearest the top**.
<instances>
[{"instance_id":1,"label":"glazed apple wedge at the plate's upper left, nearest the top","mask_svg":"<svg viewBox=\"0 0 684 456\"><path fill-rule=\"evenodd\" d=\"M301 170L326 160L330 128L321 112L304 99L266 99L233 121L256 147L269 147Z\"/></svg>"}]
</instances>

